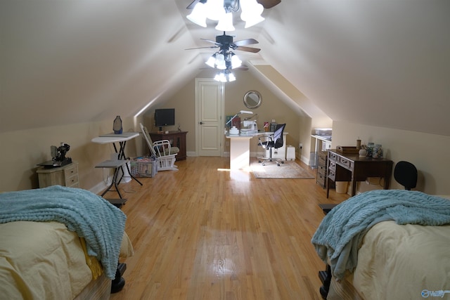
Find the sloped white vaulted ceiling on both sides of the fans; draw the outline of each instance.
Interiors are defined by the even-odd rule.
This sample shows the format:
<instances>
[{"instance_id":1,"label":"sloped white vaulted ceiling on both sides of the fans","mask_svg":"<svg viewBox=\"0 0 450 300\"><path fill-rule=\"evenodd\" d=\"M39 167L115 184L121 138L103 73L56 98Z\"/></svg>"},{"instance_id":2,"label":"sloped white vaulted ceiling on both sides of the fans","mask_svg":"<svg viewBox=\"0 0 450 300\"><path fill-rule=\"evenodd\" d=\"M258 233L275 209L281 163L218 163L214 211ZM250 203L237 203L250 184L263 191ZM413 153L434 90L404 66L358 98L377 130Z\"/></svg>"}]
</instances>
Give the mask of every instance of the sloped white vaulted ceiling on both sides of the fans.
<instances>
[{"instance_id":1,"label":"sloped white vaulted ceiling on both sides of the fans","mask_svg":"<svg viewBox=\"0 0 450 300\"><path fill-rule=\"evenodd\" d=\"M1 0L0 132L167 99L214 53L184 49L221 34L186 20L190 2ZM449 13L445 0L282 0L227 34L257 39L262 51L236 53L285 77L308 115L450 136Z\"/></svg>"}]
</instances>

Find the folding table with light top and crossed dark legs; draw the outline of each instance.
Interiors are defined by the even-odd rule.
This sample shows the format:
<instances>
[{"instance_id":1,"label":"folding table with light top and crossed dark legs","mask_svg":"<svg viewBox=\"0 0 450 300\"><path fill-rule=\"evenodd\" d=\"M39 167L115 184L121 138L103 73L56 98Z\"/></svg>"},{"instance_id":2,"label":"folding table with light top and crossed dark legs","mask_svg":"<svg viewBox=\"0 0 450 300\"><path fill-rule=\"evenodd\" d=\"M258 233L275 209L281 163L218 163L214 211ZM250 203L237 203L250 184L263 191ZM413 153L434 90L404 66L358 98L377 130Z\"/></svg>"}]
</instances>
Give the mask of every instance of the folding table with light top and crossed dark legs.
<instances>
[{"instance_id":1,"label":"folding table with light top and crossed dark legs","mask_svg":"<svg viewBox=\"0 0 450 300\"><path fill-rule=\"evenodd\" d=\"M113 161L113 162L116 162L117 164L113 164L113 165L107 164L107 162L112 162L111 160L107 160L105 162L101 162L101 164L98 164L96 166L96 168L114 168L115 169L114 176L113 176L113 182L105 190L105 192L102 194L102 196L105 195L105 193L108 192L108 190L110 190L110 188L112 188L113 185L116 186L116 190L117 190L117 183L120 183L120 181L122 181L122 178L124 176L123 164L120 164L120 162L123 162L125 159L129 159L129 157L125 156L125 145L127 144L127 141L131 140L132 138L136 138L137 136L139 136L139 132L123 132L120 134L107 133L107 134L98 136L96 138L93 138L91 140L93 143L99 143L99 144L112 143L114 146L114 150L117 153L117 160ZM117 150L117 146L115 145L115 143L119 143L118 150ZM131 176L131 178L134 179L137 183L142 185L142 183L139 180L137 180L136 177L131 175L131 171L129 171L128 164L125 164L125 166L127 166L127 171L128 171L129 176ZM117 177L118 177L117 175L118 175L119 169L122 170L122 176L117 181ZM119 197L122 198L122 196L120 195L118 190L117 190L117 193L119 194Z\"/></svg>"}]
</instances>

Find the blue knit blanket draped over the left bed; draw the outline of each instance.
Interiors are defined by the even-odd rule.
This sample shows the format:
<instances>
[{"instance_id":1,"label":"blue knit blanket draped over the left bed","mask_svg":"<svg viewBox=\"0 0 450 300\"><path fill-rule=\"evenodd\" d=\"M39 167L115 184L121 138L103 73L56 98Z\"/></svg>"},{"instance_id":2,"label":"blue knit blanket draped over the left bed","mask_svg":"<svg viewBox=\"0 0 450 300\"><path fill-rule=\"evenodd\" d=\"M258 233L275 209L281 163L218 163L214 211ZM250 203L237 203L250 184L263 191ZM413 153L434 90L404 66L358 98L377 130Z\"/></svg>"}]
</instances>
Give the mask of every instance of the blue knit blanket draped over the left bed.
<instances>
[{"instance_id":1,"label":"blue knit blanket draped over the left bed","mask_svg":"<svg viewBox=\"0 0 450 300\"><path fill-rule=\"evenodd\" d=\"M114 279L124 234L125 214L102 197L80 188L49 188L0 194L0 223L58 221L84 237L88 254Z\"/></svg>"}]
</instances>

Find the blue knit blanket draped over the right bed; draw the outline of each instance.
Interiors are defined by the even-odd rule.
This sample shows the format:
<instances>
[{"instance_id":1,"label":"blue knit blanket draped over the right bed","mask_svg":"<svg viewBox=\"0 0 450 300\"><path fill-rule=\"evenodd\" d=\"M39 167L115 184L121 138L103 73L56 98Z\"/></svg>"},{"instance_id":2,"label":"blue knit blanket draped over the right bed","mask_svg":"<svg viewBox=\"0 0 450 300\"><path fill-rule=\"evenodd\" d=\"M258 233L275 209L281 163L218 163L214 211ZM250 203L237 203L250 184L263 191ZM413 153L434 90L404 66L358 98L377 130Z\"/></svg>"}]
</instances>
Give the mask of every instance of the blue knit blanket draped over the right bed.
<instances>
[{"instance_id":1,"label":"blue knit blanket draped over the right bed","mask_svg":"<svg viewBox=\"0 0 450 300\"><path fill-rule=\"evenodd\" d=\"M323 218L312 237L319 257L342 279L358 261L366 232L376 223L440 226L450 224L450 201L409 190L372 190L342 202Z\"/></svg>"}]
</instances>

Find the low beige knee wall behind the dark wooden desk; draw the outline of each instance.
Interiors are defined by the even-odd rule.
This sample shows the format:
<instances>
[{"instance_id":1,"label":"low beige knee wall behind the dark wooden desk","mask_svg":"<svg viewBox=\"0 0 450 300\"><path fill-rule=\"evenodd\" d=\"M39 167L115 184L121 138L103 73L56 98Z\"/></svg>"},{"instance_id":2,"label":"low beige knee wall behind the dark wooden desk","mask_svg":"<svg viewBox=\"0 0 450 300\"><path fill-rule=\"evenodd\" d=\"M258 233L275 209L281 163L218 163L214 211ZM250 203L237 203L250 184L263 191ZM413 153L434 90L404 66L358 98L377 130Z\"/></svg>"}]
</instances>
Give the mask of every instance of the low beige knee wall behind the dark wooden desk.
<instances>
[{"instance_id":1,"label":"low beige knee wall behind the dark wooden desk","mask_svg":"<svg viewBox=\"0 0 450 300\"><path fill-rule=\"evenodd\" d=\"M439 136L416 131L389 129L348 122L333 122L333 144L354 146L356 139L383 145L384 156L392 159L394 166L401 160L413 163L418 169L418 185L415 190L435 195L450 195L448 153L450 136ZM358 190L370 190L373 185L359 184ZM380 187L378 187L380 188ZM392 176L390 188L403 188Z\"/></svg>"}]
</instances>

